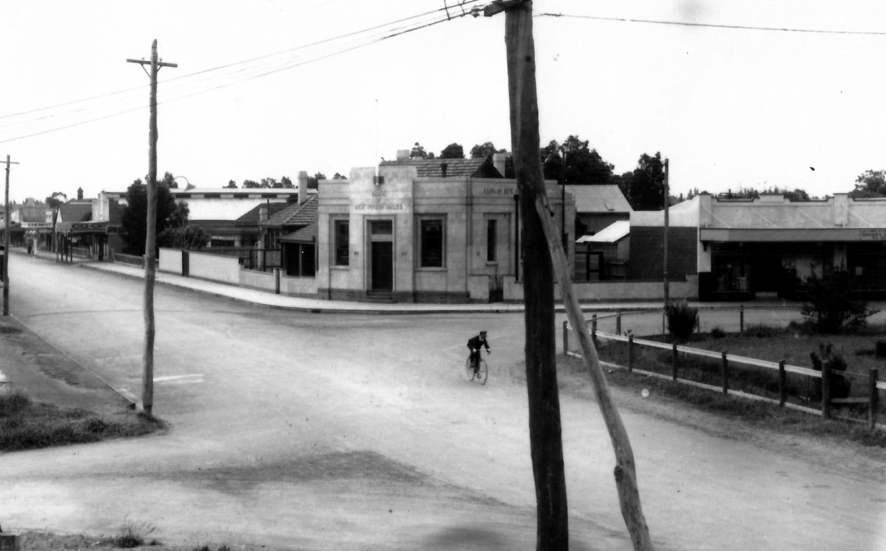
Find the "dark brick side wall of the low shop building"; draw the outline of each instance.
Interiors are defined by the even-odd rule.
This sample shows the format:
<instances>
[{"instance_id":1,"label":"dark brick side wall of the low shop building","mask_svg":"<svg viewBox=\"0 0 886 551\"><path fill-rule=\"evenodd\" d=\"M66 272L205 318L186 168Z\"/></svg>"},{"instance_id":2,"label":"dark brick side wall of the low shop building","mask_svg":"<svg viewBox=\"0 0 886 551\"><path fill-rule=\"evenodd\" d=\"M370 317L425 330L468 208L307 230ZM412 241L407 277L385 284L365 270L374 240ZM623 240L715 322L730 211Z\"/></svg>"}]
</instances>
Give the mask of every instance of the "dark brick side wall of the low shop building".
<instances>
[{"instance_id":1,"label":"dark brick side wall of the low shop building","mask_svg":"<svg viewBox=\"0 0 886 551\"><path fill-rule=\"evenodd\" d=\"M631 227L630 279L662 278L664 235L661 227ZM668 228L668 277L680 279L698 269L698 229Z\"/></svg>"}]
</instances>

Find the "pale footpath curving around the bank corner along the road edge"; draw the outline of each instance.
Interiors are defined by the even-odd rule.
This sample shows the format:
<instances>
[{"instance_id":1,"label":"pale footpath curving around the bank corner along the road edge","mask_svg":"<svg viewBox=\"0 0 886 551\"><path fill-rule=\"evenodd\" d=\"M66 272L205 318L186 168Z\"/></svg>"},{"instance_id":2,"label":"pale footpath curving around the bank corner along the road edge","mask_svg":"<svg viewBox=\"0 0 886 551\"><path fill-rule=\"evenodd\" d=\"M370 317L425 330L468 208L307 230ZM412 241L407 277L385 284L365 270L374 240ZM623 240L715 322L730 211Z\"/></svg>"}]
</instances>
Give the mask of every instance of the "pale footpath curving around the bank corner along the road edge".
<instances>
[{"instance_id":1,"label":"pale footpath curving around the bank corner along the road edge","mask_svg":"<svg viewBox=\"0 0 886 551\"><path fill-rule=\"evenodd\" d=\"M24 249L18 247L12 248L12 254L27 254ZM34 253L36 258L42 260L57 261L55 252L37 251ZM14 258L12 261L15 261ZM99 270L103 272L124 275L128 277L144 278L144 268L133 266L130 264L122 264L119 262L105 262L99 260L88 260L74 258L68 265L75 265L81 268ZM308 299L303 297L290 297L286 295L277 295L268 291L258 291L239 287L237 285L229 285L227 283L218 283L197 279L193 277L185 277L183 275L175 275L167 272L157 271L155 281L159 284L172 285L191 291L199 291L218 297L249 302L252 304L280 308L284 310L295 310L303 312L311 312L315 314L336 313L336 314L508 314L522 313L525 307L521 303L504 303L494 302L490 304L408 304L408 303L375 303L375 302L356 302L346 300L323 300ZM738 307L736 302L697 302L690 301L690 306L700 309L717 309L724 307ZM661 301L637 300L637 301L607 301L605 299L582 302L582 310L587 312L628 312L637 310L658 310L661 309ZM765 300L756 299L753 302L743 305L745 308L773 308L773 307L789 307L796 309L799 303L792 301ZM555 305L556 312L563 312L563 304Z\"/></svg>"}]
</instances>

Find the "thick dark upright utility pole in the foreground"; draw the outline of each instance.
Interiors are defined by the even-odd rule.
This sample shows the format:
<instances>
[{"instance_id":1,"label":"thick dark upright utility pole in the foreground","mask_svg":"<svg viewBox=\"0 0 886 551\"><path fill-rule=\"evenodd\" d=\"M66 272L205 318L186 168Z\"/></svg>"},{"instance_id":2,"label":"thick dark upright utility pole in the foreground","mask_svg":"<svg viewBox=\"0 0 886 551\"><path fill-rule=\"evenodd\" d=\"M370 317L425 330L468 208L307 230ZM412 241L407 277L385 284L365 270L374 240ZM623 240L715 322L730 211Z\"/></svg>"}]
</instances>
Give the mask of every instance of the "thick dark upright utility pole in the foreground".
<instances>
[{"instance_id":1,"label":"thick dark upright utility pole in the foreground","mask_svg":"<svg viewBox=\"0 0 886 551\"><path fill-rule=\"evenodd\" d=\"M497 0L484 10L505 12L510 141L514 151L520 217L523 219L526 391L529 440L535 481L536 550L569 548L566 477L560 399L556 379L554 268L536 198L547 197L539 157L539 105L535 85L532 1ZM546 212L553 215L553 212Z\"/></svg>"}]
</instances>

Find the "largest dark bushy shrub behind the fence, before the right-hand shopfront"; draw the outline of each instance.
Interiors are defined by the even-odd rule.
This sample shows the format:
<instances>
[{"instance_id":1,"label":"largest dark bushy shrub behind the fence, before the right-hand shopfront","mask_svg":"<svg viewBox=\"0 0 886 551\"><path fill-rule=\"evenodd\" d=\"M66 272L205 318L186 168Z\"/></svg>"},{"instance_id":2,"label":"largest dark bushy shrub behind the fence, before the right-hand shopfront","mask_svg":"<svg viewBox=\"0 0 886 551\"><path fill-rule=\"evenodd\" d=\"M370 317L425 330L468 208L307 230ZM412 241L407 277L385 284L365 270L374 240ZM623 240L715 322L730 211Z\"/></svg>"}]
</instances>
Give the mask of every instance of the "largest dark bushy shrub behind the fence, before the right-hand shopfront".
<instances>
[{"instance_id":1,"label":"largest dark bushy shrub behind the fence, before the right-hand shopfront","mask_svg":"<svg viewBox=\"0 0 886 551\"><path fill-rule=\"evenodd\" d=\"M835 334L857 330L867 325L867 318L879 310L867 307L867 301L851 296L846 268L835 268L828 277L812 275L804 279L806 301L800 314L815 324L820 333Z\"/></svg>"}]
</instances>

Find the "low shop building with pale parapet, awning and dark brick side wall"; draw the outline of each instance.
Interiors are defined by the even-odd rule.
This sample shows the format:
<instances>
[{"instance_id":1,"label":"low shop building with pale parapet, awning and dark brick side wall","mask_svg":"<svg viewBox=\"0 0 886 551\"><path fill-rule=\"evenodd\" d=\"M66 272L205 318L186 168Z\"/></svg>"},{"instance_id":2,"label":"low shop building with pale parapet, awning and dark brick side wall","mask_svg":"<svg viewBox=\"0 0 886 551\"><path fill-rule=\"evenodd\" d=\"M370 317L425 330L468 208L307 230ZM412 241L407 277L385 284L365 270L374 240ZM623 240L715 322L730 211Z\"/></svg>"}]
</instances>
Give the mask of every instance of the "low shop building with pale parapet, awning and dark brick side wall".
<instances>
[{"instance_id":1,"label":"low shop building with pale parapet, awning and dark brick side wall","mask_svg":"<svg viewBox=\"0 0 886 551\"><path fill-rule=\"evenodd\" d=\"M634 279L661 279L662 211L631 215ZM672 206L668 275L698 275L700 299L797 298L811 274L845 268L856 293L886 296L886 198L791 202L701 194Z\"/></svg>"}]
</instances>

